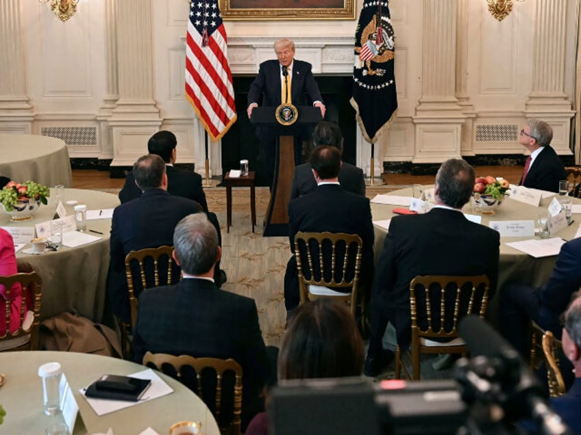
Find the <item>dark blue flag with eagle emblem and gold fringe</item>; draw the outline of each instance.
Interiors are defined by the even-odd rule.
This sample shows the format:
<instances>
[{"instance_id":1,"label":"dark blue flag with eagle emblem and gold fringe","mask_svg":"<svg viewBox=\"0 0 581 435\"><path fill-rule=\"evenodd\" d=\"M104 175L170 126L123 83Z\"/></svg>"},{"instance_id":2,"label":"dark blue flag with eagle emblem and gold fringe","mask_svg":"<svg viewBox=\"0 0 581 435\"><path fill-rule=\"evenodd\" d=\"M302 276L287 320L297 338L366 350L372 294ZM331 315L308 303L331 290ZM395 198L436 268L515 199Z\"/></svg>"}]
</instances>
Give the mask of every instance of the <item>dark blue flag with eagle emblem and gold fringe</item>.
<instances>
[{"instance_id":1,"label":"dark blue flag with eagle emblem and gold fringe","mask_svg":"<svg viewBox=\"0 0 581 435\"><path fill-rule=\"evenodd\" d=\"M353 97L359 127L374 144L397 114L393 27L387 0L364 0L355 32Z\"/></svg>"}]
</instances>

